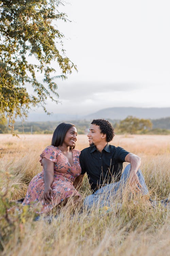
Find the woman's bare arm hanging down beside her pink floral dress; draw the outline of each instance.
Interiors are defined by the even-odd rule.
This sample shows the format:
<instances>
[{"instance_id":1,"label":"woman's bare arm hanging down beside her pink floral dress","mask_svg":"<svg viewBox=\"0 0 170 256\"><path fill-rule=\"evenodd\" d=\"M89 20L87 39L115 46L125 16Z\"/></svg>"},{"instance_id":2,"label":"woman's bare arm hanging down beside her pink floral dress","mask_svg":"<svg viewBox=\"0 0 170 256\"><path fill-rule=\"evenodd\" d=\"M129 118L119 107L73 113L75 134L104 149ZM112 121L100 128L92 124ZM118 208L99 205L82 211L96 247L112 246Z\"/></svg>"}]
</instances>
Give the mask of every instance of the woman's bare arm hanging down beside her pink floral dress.
<instances>
[{"instance_id":1,"label":"woman's bare arm hanging down beside her pink floral dress","mask_svg":"<svg viewBox=\"0 0 170 256\"><path fill-rule=\"evenodd\" d=\"M54 162L46 159L45 157L42 158L41 162L44 168L44 186L45 186L43 199L49 203L53 199L53 190L51 188L51 185L54 180Z\"/></svg>"}]
</instances>

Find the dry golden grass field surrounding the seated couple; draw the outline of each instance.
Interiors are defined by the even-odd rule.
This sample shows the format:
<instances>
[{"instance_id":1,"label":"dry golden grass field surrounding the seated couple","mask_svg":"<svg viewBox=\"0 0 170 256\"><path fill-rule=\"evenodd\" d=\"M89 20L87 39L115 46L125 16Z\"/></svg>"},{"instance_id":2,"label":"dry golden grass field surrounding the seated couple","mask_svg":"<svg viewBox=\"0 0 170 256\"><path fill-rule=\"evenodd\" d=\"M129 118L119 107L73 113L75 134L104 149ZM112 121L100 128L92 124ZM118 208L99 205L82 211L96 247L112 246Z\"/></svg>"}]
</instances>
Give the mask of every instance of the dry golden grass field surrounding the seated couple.
<instances>
[{"instance_id":1,"label":"dry golden grass field surrounding the seated couple","mask_svg":"<svg viewBox=\"0 0 170 256\"><path fill-rule=\"evenodd\" d=\"M151 207L147 199L117 199L111 212L92 209L90 213L69 206L48 223L33 221L28 207L7 213L10 200L24 197L32 177L41 171L39 155L50 145L52 135L0 134L0 251L1 255L169 255L169 209ZM170 136L116 135L111 144L121 146L142 159L141 170L152 199L169 196ZM79 135L76 148L88 146ZM124 163L126 165L126 163ZM90 193L85 177L80 190Z\"/></svg>"}]
</instances>

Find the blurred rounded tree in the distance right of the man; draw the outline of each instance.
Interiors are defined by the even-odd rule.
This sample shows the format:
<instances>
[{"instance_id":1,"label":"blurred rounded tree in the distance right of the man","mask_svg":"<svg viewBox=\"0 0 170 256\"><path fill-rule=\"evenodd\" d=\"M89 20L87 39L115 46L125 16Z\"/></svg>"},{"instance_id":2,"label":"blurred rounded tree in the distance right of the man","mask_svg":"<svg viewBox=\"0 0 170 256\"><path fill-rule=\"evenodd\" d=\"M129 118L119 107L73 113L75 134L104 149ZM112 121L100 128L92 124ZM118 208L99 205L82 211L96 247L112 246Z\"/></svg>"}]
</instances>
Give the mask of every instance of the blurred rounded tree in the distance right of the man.
<instances>
[{"instance_id":1,"label":"blurred rounded tree in the distance right of the man","mask_svg":"<svg viewBox=\"0 0 170 256\"><path fill-rule=\"evenodd\" d=\"M152 122L149 119L139 119L133 116L126 117L118 125L120 132L128 132L130 134L145 133L147 129L152 129Z\"/></svg>"}]
</instances>

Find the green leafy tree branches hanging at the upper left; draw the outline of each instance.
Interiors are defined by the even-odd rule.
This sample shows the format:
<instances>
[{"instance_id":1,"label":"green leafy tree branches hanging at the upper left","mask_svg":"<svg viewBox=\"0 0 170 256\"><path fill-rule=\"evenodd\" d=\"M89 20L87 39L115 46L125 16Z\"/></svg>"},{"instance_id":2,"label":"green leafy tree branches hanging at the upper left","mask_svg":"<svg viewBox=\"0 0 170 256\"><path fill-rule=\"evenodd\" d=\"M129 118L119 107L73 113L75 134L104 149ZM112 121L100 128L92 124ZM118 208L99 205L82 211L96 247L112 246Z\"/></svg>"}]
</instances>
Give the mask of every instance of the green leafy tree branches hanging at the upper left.
<instances>
[{"instance_id":1,"label":"green leafy tree branches hanging at the upper left","mask_svg":"<svg viewBox=\"0 0 170 256\"><path fill-rule=\"evenodd\" d=\"M66 79L67 73L77 70L65 55L64 35L53 25L58 19L68 21L58 11L61 4L60 0L0 1L0 113L9 118L11 128L17 116L27 116L31 106L42 106L48 113L47 98L58 102L54 79ZM30 56L37 63L30 63ZM44 74L42 82L38 74ZM29 85L33 95L27 91Z\"/></svg>"}]
</instances>

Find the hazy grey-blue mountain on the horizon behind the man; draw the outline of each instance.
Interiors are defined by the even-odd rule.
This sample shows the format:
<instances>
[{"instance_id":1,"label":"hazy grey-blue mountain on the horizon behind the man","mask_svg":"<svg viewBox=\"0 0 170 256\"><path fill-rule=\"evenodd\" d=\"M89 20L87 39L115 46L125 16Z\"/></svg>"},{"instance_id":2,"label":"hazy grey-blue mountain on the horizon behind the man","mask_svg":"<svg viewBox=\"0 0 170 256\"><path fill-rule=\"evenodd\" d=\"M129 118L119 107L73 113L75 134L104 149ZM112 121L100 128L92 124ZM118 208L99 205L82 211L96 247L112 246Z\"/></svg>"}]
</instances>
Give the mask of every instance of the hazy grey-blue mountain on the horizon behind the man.
<instances>
[{"instance_id":1,"label":"hazy grey-blue mountain on the horizon behind the man","mask_svg":"<svg viewBox=\"0 0 170 256\"><path fill-rule=\"evenodd\" d=\"M92 118L110 118L124 119L127 116L135 116L137 118L158 119L170 117L170 108L134 108L134 107L115 107L101 109L95 113L85 116L85 119Z\"/></svg>"}]
</instances>

